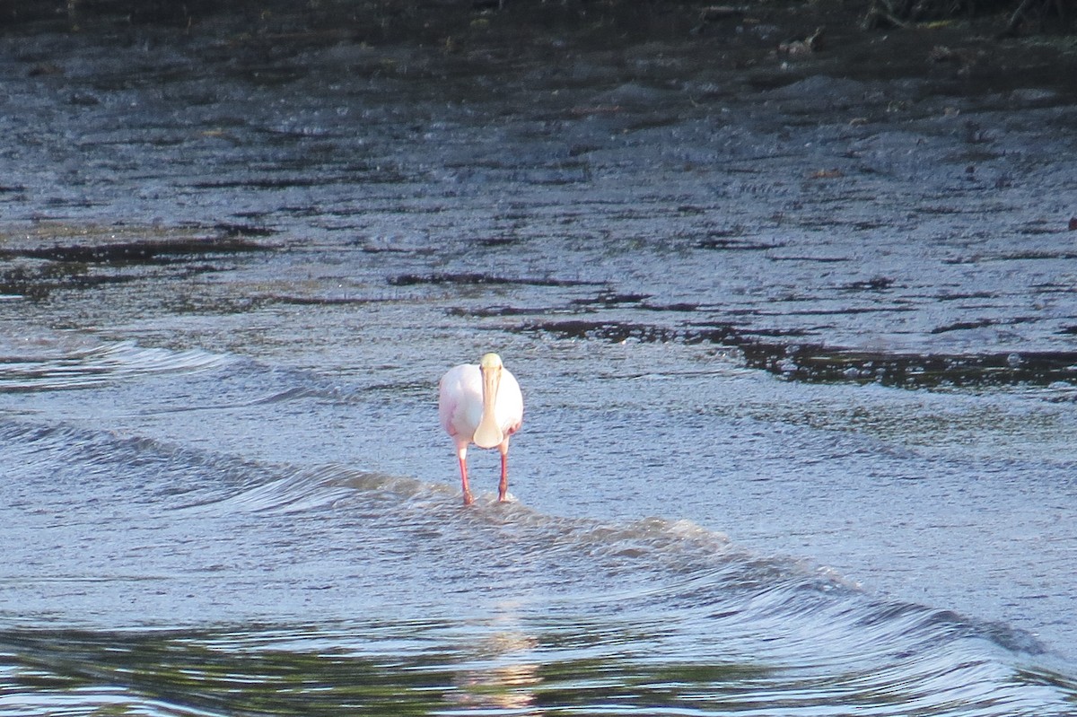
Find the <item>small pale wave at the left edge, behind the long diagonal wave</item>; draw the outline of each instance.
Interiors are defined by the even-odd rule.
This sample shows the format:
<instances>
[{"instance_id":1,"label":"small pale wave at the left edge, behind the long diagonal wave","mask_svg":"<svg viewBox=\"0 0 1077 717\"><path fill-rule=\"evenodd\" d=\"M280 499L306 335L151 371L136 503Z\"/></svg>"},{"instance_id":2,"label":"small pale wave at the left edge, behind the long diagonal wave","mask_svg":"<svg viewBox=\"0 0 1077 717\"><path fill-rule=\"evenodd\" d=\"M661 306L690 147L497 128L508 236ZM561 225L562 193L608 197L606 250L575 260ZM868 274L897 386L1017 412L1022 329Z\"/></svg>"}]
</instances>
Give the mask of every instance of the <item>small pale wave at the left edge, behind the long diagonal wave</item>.
<instances>
[{"instance_id":1,"label":"small pale wave at the left edge, behind the long diagonal wave","mask_svg":"<svg viewBox=\"0 0 1077 717\"><path fill-rule=\"evenodd\" d=\"M151 374L209 370L234 361L199 349L170 351L135 341L9 339L0 350L0 392L83 389Z\"/></svg>"}]
</instances>

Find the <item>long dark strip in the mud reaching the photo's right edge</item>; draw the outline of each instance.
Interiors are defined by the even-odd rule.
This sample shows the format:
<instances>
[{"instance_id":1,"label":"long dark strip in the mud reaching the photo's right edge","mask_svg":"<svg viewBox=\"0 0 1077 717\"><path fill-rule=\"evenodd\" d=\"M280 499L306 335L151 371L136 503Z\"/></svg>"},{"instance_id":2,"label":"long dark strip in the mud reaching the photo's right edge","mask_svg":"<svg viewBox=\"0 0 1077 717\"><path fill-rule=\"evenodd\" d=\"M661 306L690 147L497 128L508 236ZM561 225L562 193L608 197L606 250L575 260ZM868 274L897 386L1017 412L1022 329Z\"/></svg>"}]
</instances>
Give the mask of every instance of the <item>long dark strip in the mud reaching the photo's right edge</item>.
<instances>
[{"instance_id":1,"label":"long dark strip in the mud reaching the photo's right edge","mask_svg":"<svg viewBox=\"0 0 1077 717\"><path fill-rule=\"evenodd\" d=\"M981 355L884 353L796 343L795 333L764 338L732 324L681 327L619 321L567 319L524 324L523 333L613 343L713 343L737 349L749 368L808 383L877 383L904 389L988 388L1077 384L1077 351L988 353ZM1077 331L1077 327L1075 327ZM771 340L783 336L785 342Z\"/></svg>"}]
</instances>

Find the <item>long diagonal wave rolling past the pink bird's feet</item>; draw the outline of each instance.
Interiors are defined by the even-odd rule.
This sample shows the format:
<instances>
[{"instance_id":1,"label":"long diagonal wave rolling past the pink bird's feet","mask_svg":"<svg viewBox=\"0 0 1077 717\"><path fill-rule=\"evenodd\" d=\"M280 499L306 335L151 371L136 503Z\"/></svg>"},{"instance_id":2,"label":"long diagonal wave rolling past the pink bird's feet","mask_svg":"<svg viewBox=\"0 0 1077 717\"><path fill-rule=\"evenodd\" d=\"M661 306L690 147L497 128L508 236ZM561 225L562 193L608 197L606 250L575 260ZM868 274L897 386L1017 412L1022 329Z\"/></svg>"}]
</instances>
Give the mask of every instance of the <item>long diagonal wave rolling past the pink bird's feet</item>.
<instances>
[{"instance_id":1,"label":"long diagonal wave rolling past the pink bird's feet","mask_svg":"<svg viewBox=\"0 0 1077 717\"><path fill-rule=\"evenodd\" d=\"M839 630L849 633L839 642L862 639L862 655L870 644L911 649L910 642L959 634L1012 652L1044 650L1032 635L1008 625L871 598L830 568L756 553L689 520L610 522L481 501L464 508L451 487L410 477L338 464L256 463L141 438L94 432L73 436L71 431L25 424L23 437L69 453L82 451L81 458L68 456L75 462L139 466L143 480L159 473L159 481L144 483L157 496L148 500L171 496L170 507L181 516L302 516L323 521L326 532L342 524L373 534L390 531L398 543L392 554L418 551L415 540L421 540L421 551L445 564L452 564L453 553L492 556L470 573L471 579L495 582L507 573L533 573L537 582L545 582L542 600L556 598L559 609L571 611L598 600L631 603L659 615L688 609L707 620L725 616L738 623L778 625L778 633L787 624L799 624L803 632L807 623L815 637ZM369 523L366 529L363 521ZM785 634L783 649L796 644L795 637ZM803 644L806 656L816 648L814 639Z\"/></svg>"}]
</instances>

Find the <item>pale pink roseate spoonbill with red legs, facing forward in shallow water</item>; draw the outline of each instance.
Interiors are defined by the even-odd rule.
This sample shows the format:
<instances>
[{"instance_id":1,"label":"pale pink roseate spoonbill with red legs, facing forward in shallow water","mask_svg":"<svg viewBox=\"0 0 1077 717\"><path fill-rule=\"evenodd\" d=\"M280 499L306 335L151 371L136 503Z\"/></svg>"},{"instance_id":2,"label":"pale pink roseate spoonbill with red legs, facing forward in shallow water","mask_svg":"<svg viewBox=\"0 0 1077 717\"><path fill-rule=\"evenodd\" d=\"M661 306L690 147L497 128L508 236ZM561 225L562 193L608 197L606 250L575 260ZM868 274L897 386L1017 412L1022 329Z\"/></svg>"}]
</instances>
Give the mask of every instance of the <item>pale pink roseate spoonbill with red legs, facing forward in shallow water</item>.
<instances>
[{"instance_id":1,"label":"pale pink roseate spoonbill with red legs, facing forward in shallow water","mask_svg":"<svg viewBox=\"0 0 1077 717\"><path fill-rule=\"evenodd\" d=\"M501 356L488 353L476 366L461 364L450 368L437 384L437 414L442 427L457 444L460 482L464 505L474 501L467 487L467 446L496 448L501 451L501 482L498 500L508 492L508 437L523 422L523 394Z\"/></svg>"}]
</instances>

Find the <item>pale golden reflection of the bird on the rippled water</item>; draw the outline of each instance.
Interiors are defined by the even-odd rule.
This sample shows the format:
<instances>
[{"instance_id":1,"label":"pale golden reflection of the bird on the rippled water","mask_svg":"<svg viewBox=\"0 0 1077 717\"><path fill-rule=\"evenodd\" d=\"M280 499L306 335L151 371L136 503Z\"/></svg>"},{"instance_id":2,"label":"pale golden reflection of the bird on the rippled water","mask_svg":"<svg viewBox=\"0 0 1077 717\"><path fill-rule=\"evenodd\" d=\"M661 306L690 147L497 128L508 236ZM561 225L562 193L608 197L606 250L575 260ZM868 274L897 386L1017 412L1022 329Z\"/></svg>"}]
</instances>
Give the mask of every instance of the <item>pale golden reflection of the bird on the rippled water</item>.
<instances>
[{"instance_id":1,"label":"pale golden reflection of the bird on the rippled water","mask_svg":"<svg viewBox=\"0 0 1077 717\"><path fill-rule=\"evenodd\" d=\"M500 614L493 621L515 624L492 632L472 646L468 652L476 659L461 666L453 679L458 691L449 694L448 700L465 713L499 709L537 715L534 688L542 677L538 662L530 658L538 639L523 632L519 620L510 613Z\"/></svg>"}]
</instances>

